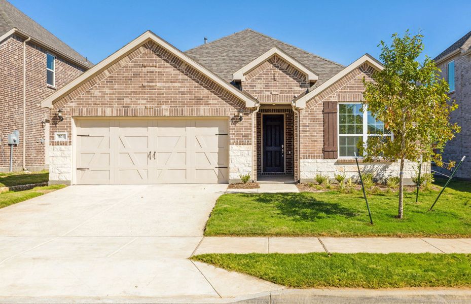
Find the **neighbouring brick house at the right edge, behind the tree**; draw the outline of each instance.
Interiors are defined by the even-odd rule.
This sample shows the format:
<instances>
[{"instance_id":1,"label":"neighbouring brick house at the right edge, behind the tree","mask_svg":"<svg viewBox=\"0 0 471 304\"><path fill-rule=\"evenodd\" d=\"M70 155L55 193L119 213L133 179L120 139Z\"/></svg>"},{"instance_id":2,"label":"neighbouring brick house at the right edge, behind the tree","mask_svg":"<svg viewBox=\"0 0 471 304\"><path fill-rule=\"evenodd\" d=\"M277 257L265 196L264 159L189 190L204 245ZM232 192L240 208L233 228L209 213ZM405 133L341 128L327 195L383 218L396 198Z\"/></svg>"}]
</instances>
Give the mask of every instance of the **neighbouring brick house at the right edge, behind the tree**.
<instances>
[{"instance_id":1,"label":"neighbouring brick house at the right edge, behind the tree","mask_svg":"<svg viewBox=\"0 0 471 304\"><path fill-rule=\"evenodd\" d=\"M461 126L461 132L446 145L443 160L458 162L466 156L456 176L471 179L471 31L433 60L448 81L450 98L458 104L450 120Z\"/></svg>"}]
</instances>

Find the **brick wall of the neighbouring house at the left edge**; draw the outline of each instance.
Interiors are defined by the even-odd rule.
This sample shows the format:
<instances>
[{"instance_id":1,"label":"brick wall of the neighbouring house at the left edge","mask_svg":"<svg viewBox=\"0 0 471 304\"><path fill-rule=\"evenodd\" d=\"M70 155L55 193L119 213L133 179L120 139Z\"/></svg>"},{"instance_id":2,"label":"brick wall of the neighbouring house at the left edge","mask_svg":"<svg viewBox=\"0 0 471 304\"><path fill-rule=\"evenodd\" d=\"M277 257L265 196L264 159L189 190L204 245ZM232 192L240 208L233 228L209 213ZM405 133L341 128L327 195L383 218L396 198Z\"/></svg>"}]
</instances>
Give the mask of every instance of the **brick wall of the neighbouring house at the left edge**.
<instances>
[{"instance_id":1,"label":"brick wall of the neighbouring house at the left edge","mask_svg":"<svg viewBox=\"0 0 471 304\"><path fill-rule=\"evenodd\" d=\"M7 137L19 130L20 144L13 151L15 170L23 169L23 144L26 147L25 167L28 170L47 168L45 158L46 126L49 110L38 104L56 89L75 79L84 70L56 55L55 85L46 83L46 52L30 42L26 43L26 142L23 141L23 39L15 34L0 42L0 171L9 169L10 147Z\"/></svg>"}]
</instances>

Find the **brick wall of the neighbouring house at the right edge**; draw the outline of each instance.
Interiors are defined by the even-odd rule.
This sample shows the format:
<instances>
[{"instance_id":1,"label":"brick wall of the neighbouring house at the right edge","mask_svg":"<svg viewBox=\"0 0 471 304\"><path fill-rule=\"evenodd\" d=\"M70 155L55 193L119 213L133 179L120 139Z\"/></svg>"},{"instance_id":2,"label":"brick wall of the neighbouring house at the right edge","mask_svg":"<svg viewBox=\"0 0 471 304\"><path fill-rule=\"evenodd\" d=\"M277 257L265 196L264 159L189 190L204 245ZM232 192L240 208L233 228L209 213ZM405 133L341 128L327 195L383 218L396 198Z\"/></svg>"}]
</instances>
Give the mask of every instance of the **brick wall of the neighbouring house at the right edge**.
<instances>
[{"instance_id":1,"label":"brick wall of the neighbouring house at the right edge","mask_svg":"<svg viewBox=\"0 0 471 304\"><path fill-rule=\"evenodd\" d=\"M465 155L467 159L456 172L456 176L471 179L471 55L457 54L438 64L445 79L448 77L448 62L452 60L455 61L455 91L449 96L456 101L458 109L451 112L450 121L458 123L461 132L447 143L443 161L458 162ZM438 170L447 175L450 173L448 170Z\"/></svg>"}]
</instances>

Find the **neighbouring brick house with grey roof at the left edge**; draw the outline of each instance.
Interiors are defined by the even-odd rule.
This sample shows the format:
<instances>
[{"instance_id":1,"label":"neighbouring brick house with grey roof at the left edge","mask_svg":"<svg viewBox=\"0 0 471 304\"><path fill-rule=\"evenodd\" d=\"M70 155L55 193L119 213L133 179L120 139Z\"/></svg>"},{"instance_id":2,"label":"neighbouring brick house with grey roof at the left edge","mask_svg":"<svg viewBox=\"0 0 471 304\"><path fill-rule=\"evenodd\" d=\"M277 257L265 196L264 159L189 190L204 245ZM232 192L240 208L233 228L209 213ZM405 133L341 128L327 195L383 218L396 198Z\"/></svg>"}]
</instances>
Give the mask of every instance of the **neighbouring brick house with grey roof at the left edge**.
<instances>
[{"instance_id":1,"label":"neighbouring brick house with grey roof at the left edge","mask_svg":"<svg viewBox=\"0 0 471 304\"><path fill-rule=\"evenodd\" d=\"M14 130L19 131L20 144L13 148L13 169L48 168L49 111L40 102L91 66L45 28L0 0L0 171L9 170L7 138Z\"/></svg>"}]
</instances>

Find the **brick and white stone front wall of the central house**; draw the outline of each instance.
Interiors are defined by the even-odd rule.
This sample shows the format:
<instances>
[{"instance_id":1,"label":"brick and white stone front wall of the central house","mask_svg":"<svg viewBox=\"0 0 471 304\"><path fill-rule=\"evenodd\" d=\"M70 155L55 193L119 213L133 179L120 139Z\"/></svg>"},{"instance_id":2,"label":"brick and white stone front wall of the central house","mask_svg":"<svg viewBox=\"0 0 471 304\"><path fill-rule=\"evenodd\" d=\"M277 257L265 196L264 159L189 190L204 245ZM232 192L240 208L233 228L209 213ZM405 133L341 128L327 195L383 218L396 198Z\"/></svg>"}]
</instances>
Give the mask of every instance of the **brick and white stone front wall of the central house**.
<instances>
[{"instance_id":1,"label":"brick and white stone front wall of the central house","mask_svg":"<svg viewBox=\"0 0 471 304\"><path fill-rule=\"evenodd\" d=\"M354 177L356 171L351 163L324 159L323 103L361 102L363 79L371 81L373 71L374 67L365 63L308 100L306 107L299 109L298 126L298 114L291 102L294 96L306 92L310 84L303 73L278 56L244 75L242 90L261 101L257 115L253 115L255 108L247 108L231 90L151 39L83 79L53 102L50 141L54 160L50 179L52 182L73 180L74 147L70 135L74 118L80 117L226 117L229 119L229 181L240 181L240 175L248 172L257 179L262 174L262 119L272 114L285 117L286 175L301 181L312 180L316 173L333 177L334 173L345 172ZM57 117L58 109L62 109L62 122ZM67 132L69 137L66 141L54 141L55 132ZM378 178L397 173L396 163L361 164L361 167L378 173ZM415 169L415 164L408 164L406 178L410 179Z\"/></svg>"}]
</instances>

